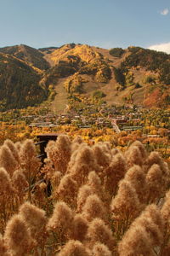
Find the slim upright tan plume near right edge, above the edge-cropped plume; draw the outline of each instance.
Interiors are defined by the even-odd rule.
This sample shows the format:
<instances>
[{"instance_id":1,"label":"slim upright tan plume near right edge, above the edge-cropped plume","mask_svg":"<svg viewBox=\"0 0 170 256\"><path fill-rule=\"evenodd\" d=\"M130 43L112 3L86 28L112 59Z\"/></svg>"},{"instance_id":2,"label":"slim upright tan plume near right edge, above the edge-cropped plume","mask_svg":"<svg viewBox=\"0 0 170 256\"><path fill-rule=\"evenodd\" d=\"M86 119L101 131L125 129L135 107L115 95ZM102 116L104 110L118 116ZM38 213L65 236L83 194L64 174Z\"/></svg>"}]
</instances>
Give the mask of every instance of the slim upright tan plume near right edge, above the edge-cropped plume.
<instances>
[{"instance_id":1,"label":"slim upright tan plume near right edge, above the edge-cropped plume","mask_svg":"<svg viewBox=\"0 0 170 256\"><path fill-rule=\"evenodd\" d=\"M147 201L152 203L159 199L164 189L161 167L153 164L146 174L146 184L148 187Z\"/></svg>"}]
</instances>

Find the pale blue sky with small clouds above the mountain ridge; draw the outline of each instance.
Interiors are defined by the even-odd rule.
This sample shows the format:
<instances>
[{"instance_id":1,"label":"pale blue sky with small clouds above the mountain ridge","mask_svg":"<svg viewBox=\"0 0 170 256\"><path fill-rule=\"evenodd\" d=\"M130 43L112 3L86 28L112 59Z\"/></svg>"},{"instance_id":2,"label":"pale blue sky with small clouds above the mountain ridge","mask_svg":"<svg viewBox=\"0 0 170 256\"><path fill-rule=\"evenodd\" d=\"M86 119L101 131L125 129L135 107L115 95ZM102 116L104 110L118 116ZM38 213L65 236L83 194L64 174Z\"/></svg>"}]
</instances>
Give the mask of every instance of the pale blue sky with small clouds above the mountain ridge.
<instances>
[{"instance_id":1,"label":"pale blue sky with small clouds above the mountain ridge","mask_svg":"<svg viewBox=\"0 0 170 256\"><path fill-rule=\"evenodd\" d=\"M69 43L170 54L170 0L0 0L0 47Z\"/></svg>"}]
</instances>

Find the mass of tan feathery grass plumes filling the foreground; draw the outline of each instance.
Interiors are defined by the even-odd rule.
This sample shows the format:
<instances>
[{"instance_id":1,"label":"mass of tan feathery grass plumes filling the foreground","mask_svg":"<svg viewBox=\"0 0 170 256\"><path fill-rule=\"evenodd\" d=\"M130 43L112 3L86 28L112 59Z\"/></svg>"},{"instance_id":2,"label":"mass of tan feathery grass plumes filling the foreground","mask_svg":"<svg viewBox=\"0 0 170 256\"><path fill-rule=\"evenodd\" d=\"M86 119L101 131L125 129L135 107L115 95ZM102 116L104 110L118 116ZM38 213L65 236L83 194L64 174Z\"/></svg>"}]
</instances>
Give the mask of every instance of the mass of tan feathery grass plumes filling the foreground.
<instances>
[{"instance_id":1,"label":"mass of tan feathery grass plumes filling the foreground","mask_svg":"<svg viewBox=\"0 0 170 256\"><path fill-rule=\"evenodd\" d=\"M159 154L61 135L42 166L31 140L17 148L0 148L0 255L169 255L170 171Z\"/></svg>"}]
</instances>

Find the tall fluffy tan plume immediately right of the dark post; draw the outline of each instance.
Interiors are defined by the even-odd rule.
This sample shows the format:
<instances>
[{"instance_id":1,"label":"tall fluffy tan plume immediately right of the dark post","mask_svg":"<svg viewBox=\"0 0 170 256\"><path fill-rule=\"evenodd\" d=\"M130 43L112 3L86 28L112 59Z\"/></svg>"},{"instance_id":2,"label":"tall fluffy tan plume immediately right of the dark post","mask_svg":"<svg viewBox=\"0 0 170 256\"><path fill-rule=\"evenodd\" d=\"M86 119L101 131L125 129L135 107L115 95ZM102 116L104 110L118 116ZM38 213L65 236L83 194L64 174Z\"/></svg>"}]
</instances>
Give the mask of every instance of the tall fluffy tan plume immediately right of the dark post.
<instances>
[{"instance_id":1,"label":"tall fluffy tan plume immediately right of the dark post","mask_svg":"<svg viewBox=\"0 0 170 256\"><path fill-rule=\"evenodd\" d=\"M56 142L49 142L45 149L55 171L66 172L71 158L71 141L67 135L59 135Z\"/></svg>"}]
</instances>

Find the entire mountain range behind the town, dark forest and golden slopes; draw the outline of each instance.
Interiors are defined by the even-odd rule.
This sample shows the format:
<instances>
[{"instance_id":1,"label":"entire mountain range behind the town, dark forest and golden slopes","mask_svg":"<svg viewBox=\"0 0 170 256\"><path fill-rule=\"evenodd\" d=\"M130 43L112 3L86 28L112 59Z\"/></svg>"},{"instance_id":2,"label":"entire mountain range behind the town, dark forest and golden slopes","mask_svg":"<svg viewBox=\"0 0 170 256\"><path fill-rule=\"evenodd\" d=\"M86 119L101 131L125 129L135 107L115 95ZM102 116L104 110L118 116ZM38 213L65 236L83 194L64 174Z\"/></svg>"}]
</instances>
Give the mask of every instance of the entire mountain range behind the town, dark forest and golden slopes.
<instances>
[{"instance_id":1,"label":"entire mountain range behind the town, dark forest and golden slopes","mask_svg":"<svg viewBox=\"0 0 170 256\"><path fill-rule=\"evenodd\" d=\"M170 102L170 55L140 47L101 49L85 44L33 49L0 49L1 108L25 108L48 97L48 87L64 94L92 96L109 104L162 108ZM55 96L59 102L59 95Z\"/></svg>"}]
</instances>

